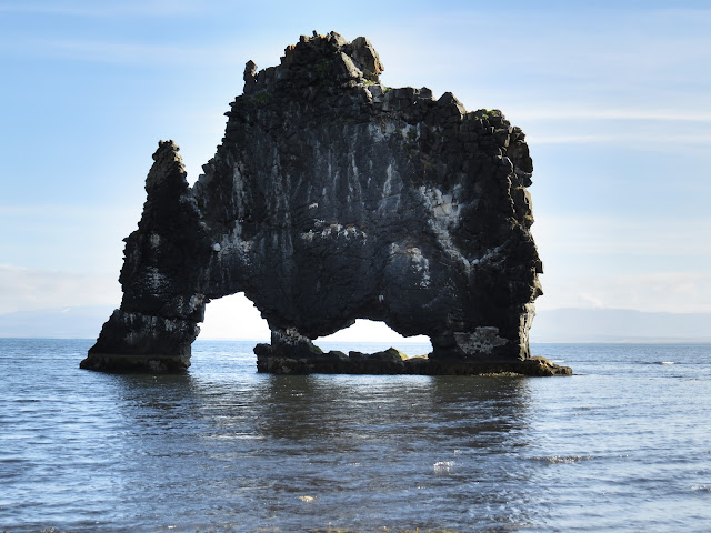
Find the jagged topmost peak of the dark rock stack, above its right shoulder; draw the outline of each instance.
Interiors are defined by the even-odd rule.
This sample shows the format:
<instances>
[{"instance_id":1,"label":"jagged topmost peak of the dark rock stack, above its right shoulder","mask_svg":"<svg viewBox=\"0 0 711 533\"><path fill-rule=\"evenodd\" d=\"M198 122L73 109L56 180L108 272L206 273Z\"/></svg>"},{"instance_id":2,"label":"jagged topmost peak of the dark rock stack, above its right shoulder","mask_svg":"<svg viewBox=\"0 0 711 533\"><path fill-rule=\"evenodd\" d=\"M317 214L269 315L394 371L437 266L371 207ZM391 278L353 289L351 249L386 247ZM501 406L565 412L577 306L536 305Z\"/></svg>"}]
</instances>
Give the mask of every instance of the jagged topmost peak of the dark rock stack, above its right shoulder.
<instances>
[{"instance_id":1,"label":"jagged topmost peak of the dark rock stack, above its right shoulder","mask_svg":"<svg viewBox=\"0 0 711 533\"><path fill-rule=\"evenodd\" d=\"M270 88L274 83L378 82L383 71L378 52L367 37L349 42L332 31L326 36L301 36L297 44L284 49L281 64L257 72L257 64L244 67L244 94Z\"/></svg>"}]
</instances>

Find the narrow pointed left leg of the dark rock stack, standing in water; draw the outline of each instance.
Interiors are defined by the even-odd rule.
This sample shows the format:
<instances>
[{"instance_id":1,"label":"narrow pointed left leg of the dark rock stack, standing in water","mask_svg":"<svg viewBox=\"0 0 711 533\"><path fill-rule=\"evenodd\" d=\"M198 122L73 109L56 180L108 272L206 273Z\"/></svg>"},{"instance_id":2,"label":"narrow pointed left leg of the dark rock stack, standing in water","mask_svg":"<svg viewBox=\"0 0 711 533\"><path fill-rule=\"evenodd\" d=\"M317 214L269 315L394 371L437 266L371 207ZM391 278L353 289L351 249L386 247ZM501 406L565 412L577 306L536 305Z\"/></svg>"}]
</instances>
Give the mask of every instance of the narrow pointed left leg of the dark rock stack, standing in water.
<instances>
[{"instance_id":1,"label":"narrow pointed left leg of the dark rock stack, standing in water","mask_svg":"<svg viewBox=\"0 0 711 533\"><path fill-rule=\"evenodd\" d=\"M126 239L121 308L103 324L82 369L177 372L204 319L199 276L212 252L178 147L161 141L146 180L138 229Z\"/></svg>"}]
</instances>

